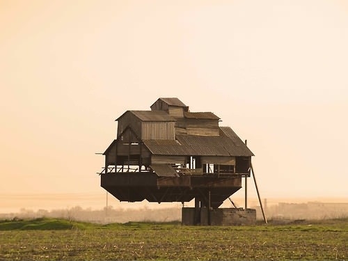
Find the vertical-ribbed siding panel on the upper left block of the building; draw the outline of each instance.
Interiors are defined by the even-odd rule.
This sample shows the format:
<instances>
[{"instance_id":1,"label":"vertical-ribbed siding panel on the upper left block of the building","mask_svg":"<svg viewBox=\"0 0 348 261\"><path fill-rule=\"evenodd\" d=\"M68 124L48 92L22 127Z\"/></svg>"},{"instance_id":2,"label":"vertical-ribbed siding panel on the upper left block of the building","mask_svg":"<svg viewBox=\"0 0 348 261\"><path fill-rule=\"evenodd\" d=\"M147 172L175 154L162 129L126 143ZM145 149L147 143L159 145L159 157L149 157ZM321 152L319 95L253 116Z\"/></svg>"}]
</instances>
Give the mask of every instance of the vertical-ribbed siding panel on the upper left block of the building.
<instances>
[{"instance_id":1,"label":"vertical-ribbed siding panel on the upper left block of the building","mask_svg":"<svg viewBox=\"0 0 348 261\"><path fill-rule=\"evenodd\" d=\"M143 140L174 140L175 122L143 122Z\"/></svg>"}]
</instances>

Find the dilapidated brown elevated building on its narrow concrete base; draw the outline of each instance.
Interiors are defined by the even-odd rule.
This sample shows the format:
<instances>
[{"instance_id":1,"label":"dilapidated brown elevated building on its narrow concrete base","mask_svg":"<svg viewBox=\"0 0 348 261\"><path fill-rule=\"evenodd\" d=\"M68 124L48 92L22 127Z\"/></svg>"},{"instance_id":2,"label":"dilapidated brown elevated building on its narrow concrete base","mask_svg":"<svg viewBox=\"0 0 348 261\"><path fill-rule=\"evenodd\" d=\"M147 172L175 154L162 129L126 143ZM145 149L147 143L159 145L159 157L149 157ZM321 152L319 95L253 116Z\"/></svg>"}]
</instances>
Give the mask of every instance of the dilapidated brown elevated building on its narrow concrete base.
<instances>
[{"instance_id":1,"label":"dilapidated brown elevated building on its narrow concrete base","mask_svg":"<svg viewBox=\"0 0 348 261\"><path fill-rule=\"evenodd\" d=\"M253 152L212 112L191 112L176 97L150 111L126 111L103 155L101 186L120 201L189 202L184 225L254 223L255 209L219 208L251 175ZM232 202L232 200L231 200Z\"/></svg>"}]
</instances>

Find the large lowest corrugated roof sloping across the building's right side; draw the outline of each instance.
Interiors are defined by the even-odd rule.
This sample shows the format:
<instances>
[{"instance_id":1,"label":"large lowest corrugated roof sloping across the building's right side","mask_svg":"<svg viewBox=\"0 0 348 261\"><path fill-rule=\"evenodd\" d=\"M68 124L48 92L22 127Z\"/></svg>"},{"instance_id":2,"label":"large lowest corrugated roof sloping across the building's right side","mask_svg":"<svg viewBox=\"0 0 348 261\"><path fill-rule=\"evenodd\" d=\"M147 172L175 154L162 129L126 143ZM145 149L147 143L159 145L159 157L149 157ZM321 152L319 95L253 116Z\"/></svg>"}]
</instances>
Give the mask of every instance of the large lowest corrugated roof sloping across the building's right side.
<instances>
[{"instance_id":1,"label":"large lowest corrugated roof sloping across the building's right side","mask_svg":"<svg viewBox=\"0 0 348 261\"><path fill-rule=\"evenodd\" d=\"M179 135L176 141L144 141L154 155L253 156L230 127L220 127L220 136Z\"/></svg>"}]
</instances>

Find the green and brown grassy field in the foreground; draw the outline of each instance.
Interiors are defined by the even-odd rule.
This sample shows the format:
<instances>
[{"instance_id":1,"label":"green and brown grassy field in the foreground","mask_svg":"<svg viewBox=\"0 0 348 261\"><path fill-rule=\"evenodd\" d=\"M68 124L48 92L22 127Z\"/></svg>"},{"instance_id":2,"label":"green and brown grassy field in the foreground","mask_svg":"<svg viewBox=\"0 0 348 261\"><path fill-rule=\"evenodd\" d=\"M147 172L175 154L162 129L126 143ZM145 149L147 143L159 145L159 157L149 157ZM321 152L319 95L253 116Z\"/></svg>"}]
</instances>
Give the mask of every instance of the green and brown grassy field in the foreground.
<instances>
[{"instance_id":1,"label":"green and brown grassy field in the foreground","mask_svg":"<svg viewBox=\"0 0 348 261\"><path fill-rule=\"evenodd\" d=\"M0 260L347 260L348 219L287 225L0 221Z\"/></svg>"}]
</instances>

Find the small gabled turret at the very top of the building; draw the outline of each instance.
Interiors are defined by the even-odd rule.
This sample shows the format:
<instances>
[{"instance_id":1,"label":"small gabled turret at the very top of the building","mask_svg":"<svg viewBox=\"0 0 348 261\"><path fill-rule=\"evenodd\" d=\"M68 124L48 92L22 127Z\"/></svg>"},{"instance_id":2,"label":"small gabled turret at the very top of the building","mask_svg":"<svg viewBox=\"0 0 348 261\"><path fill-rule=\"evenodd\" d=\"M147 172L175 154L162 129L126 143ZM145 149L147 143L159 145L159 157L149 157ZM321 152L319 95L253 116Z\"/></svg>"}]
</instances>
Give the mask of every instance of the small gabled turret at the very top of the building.
<instances>
[{"instance_id":1,"label":"small gabled turret at the very top of the building","mask_svg":"<svg viewBox=\"0 0 348 261\"><path fill-rule=\"evenodd\" d=\"M175 118L184 118L184 112L189 111L189 106L177 98L159 98L150 108L151 111L166 111Z\"/></svg>"}]
</instances>

